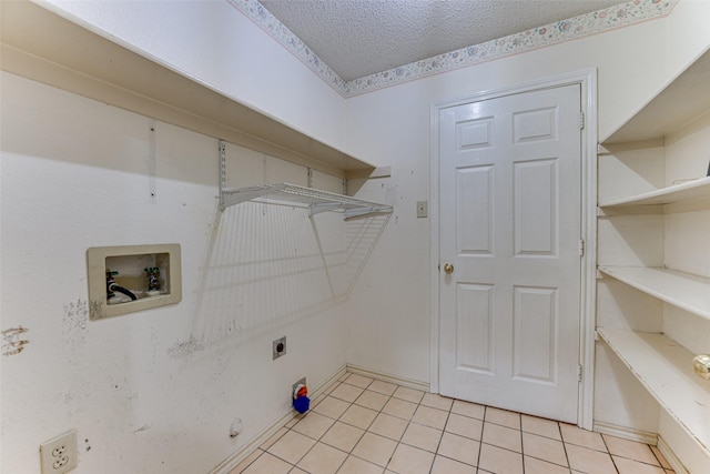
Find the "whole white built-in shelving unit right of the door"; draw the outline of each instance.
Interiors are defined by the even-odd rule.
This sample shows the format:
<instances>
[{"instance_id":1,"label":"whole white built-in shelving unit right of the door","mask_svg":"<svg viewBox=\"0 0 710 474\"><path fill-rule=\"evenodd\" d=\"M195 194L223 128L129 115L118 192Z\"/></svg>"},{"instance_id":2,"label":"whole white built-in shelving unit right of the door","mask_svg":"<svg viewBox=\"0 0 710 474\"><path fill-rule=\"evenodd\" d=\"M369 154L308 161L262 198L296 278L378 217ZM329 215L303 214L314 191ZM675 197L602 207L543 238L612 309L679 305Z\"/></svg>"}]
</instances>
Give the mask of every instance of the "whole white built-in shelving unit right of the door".
<instances>
[{"instance_id":1,"label":"whole white built-in shelving unit right of the door","mask_svg":"<svg viewBox=\"0 0 710 474\"><path fill-rule=\"evenodd\" d=\"M710 381L694 374L696 354L687 349L697 351L701 345L701 351L710 352L710 341L703 345L698 337L684 340L693 332L710 331L710 265L696 264L708 255L707 241L697 233L710 229L708 84L710 52L599 144L598 219L605 220L598 225L599 241L610 248L598 250L598 284L611 284L609 280L622 284L598 291L598 297L616 301L598 302L597 307L616 310L598 314L606 325L597 332L681 428L669 428L659 418L659 435L673 451L669 458L680 463L673 466L679 472L710 472ZM678 178L683 181L676 184ZM650 183L656 189L649 191ZM640 266L646 262L652 266ZM676 309L629 304L638 302L635 290ZM656 331L635 331L640 321L645 330ZM691 326L680 330L687 324ZM666 330L676 340L663 334ZM686 448L689 440L692 450Z\"/></svg>"}]
</instances>

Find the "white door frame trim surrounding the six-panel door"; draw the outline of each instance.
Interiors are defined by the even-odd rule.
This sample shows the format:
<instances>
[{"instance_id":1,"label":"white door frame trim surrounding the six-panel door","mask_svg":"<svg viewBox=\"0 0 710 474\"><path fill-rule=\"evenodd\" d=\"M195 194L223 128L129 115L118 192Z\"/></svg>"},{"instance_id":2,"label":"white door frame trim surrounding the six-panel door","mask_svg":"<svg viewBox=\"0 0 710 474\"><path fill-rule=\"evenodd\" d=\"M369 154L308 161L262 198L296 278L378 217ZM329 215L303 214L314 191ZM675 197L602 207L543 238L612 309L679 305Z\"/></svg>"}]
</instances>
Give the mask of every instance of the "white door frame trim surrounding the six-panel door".
<instances>
[{"instance_id":1,"label":"white door frame trim surrounding the six-panel door","mask_svg":"<svg viewBox=\"0 0 710 474\"><path fill-rule=\"evenodd\" d=\"M594 364L595 364L595 316L597 294L597 69L545 78L518 85L485 90L465 98L436 102L430 107L430 183L429 202L434 210L430 215L430 369L432 393L439 393L439 112L450 107L496 99L523 92L532 92L564 85L579 84L585 127L581 131L581 236L585 254L581 258L579 363L581 382L577 409L577 425L592 428L594 409Z\"/></svg>"}]
</instances>

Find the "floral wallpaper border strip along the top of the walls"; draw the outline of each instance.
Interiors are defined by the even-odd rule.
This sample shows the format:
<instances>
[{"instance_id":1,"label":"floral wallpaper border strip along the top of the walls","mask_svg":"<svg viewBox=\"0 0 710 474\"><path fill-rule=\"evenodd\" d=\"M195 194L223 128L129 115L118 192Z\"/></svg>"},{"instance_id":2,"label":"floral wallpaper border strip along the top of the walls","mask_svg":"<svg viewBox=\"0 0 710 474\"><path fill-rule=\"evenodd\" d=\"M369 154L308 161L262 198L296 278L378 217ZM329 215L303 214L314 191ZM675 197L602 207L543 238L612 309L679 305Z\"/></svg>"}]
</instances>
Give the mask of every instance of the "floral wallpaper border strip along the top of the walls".
<instances>
[{"instance_id":1,"label":"floral wallpaper border strip along the top of the walls","mask_svg":"<svg viewBox=\"0 0 710 474\"><path fill-rule=\"evenodd\" d=\"M347 82L337 75L257 0L227 1L282 43L341 95L348 98L640 21L665 17L671 12L679 0L631 0L604 10L446 52Z\"/></svg>"}]
</instances>

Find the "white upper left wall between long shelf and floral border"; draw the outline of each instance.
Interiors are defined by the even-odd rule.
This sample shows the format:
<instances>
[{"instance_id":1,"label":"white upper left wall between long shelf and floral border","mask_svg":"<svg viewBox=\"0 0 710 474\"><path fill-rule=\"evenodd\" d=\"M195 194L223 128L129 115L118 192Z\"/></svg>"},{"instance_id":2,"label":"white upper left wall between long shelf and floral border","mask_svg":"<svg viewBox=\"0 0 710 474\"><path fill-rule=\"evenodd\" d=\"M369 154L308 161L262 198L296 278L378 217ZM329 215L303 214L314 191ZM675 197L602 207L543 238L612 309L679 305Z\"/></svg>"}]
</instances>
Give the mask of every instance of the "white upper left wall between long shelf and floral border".
<instances>
[{"instance_id":1,"label":"white upper left wall between long shelf and floral border","mask_svg":"<svg viewBox=\"0 0 710 474\"><path fill-rule=\"evenodd\" d=\"M345 100L226 0L41 4L316 140L345 143Z\"/></svg>"}]
</instances>

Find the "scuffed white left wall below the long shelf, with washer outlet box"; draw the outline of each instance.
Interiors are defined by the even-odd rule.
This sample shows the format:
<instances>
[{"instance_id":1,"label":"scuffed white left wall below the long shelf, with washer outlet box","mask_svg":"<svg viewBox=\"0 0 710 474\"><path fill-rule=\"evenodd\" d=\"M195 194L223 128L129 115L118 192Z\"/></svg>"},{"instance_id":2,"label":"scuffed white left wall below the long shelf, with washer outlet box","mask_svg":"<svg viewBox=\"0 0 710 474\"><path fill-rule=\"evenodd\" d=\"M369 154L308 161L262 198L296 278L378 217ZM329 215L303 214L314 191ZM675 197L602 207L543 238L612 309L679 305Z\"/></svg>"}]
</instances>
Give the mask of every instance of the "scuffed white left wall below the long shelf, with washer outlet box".
<instances>
[{"instance_id":1,"label":"scuffed white left wall below the long shelf, with washer outlet box","mask_svg":"<svg viewBox=\"0 0 710 474\"><path fill-rule=\"evenodd\" d=\"M344 366L339 215L220 212L215 139L1 81L0 471L38 473L39 444L75 428L77 474L209 472L290 412L294 382L317 387ZM226 153L230 185L306 184L304 168ZM181 245L182 301L90 321L87 249L153 243Z\"/></svg>"}]
</instances>

